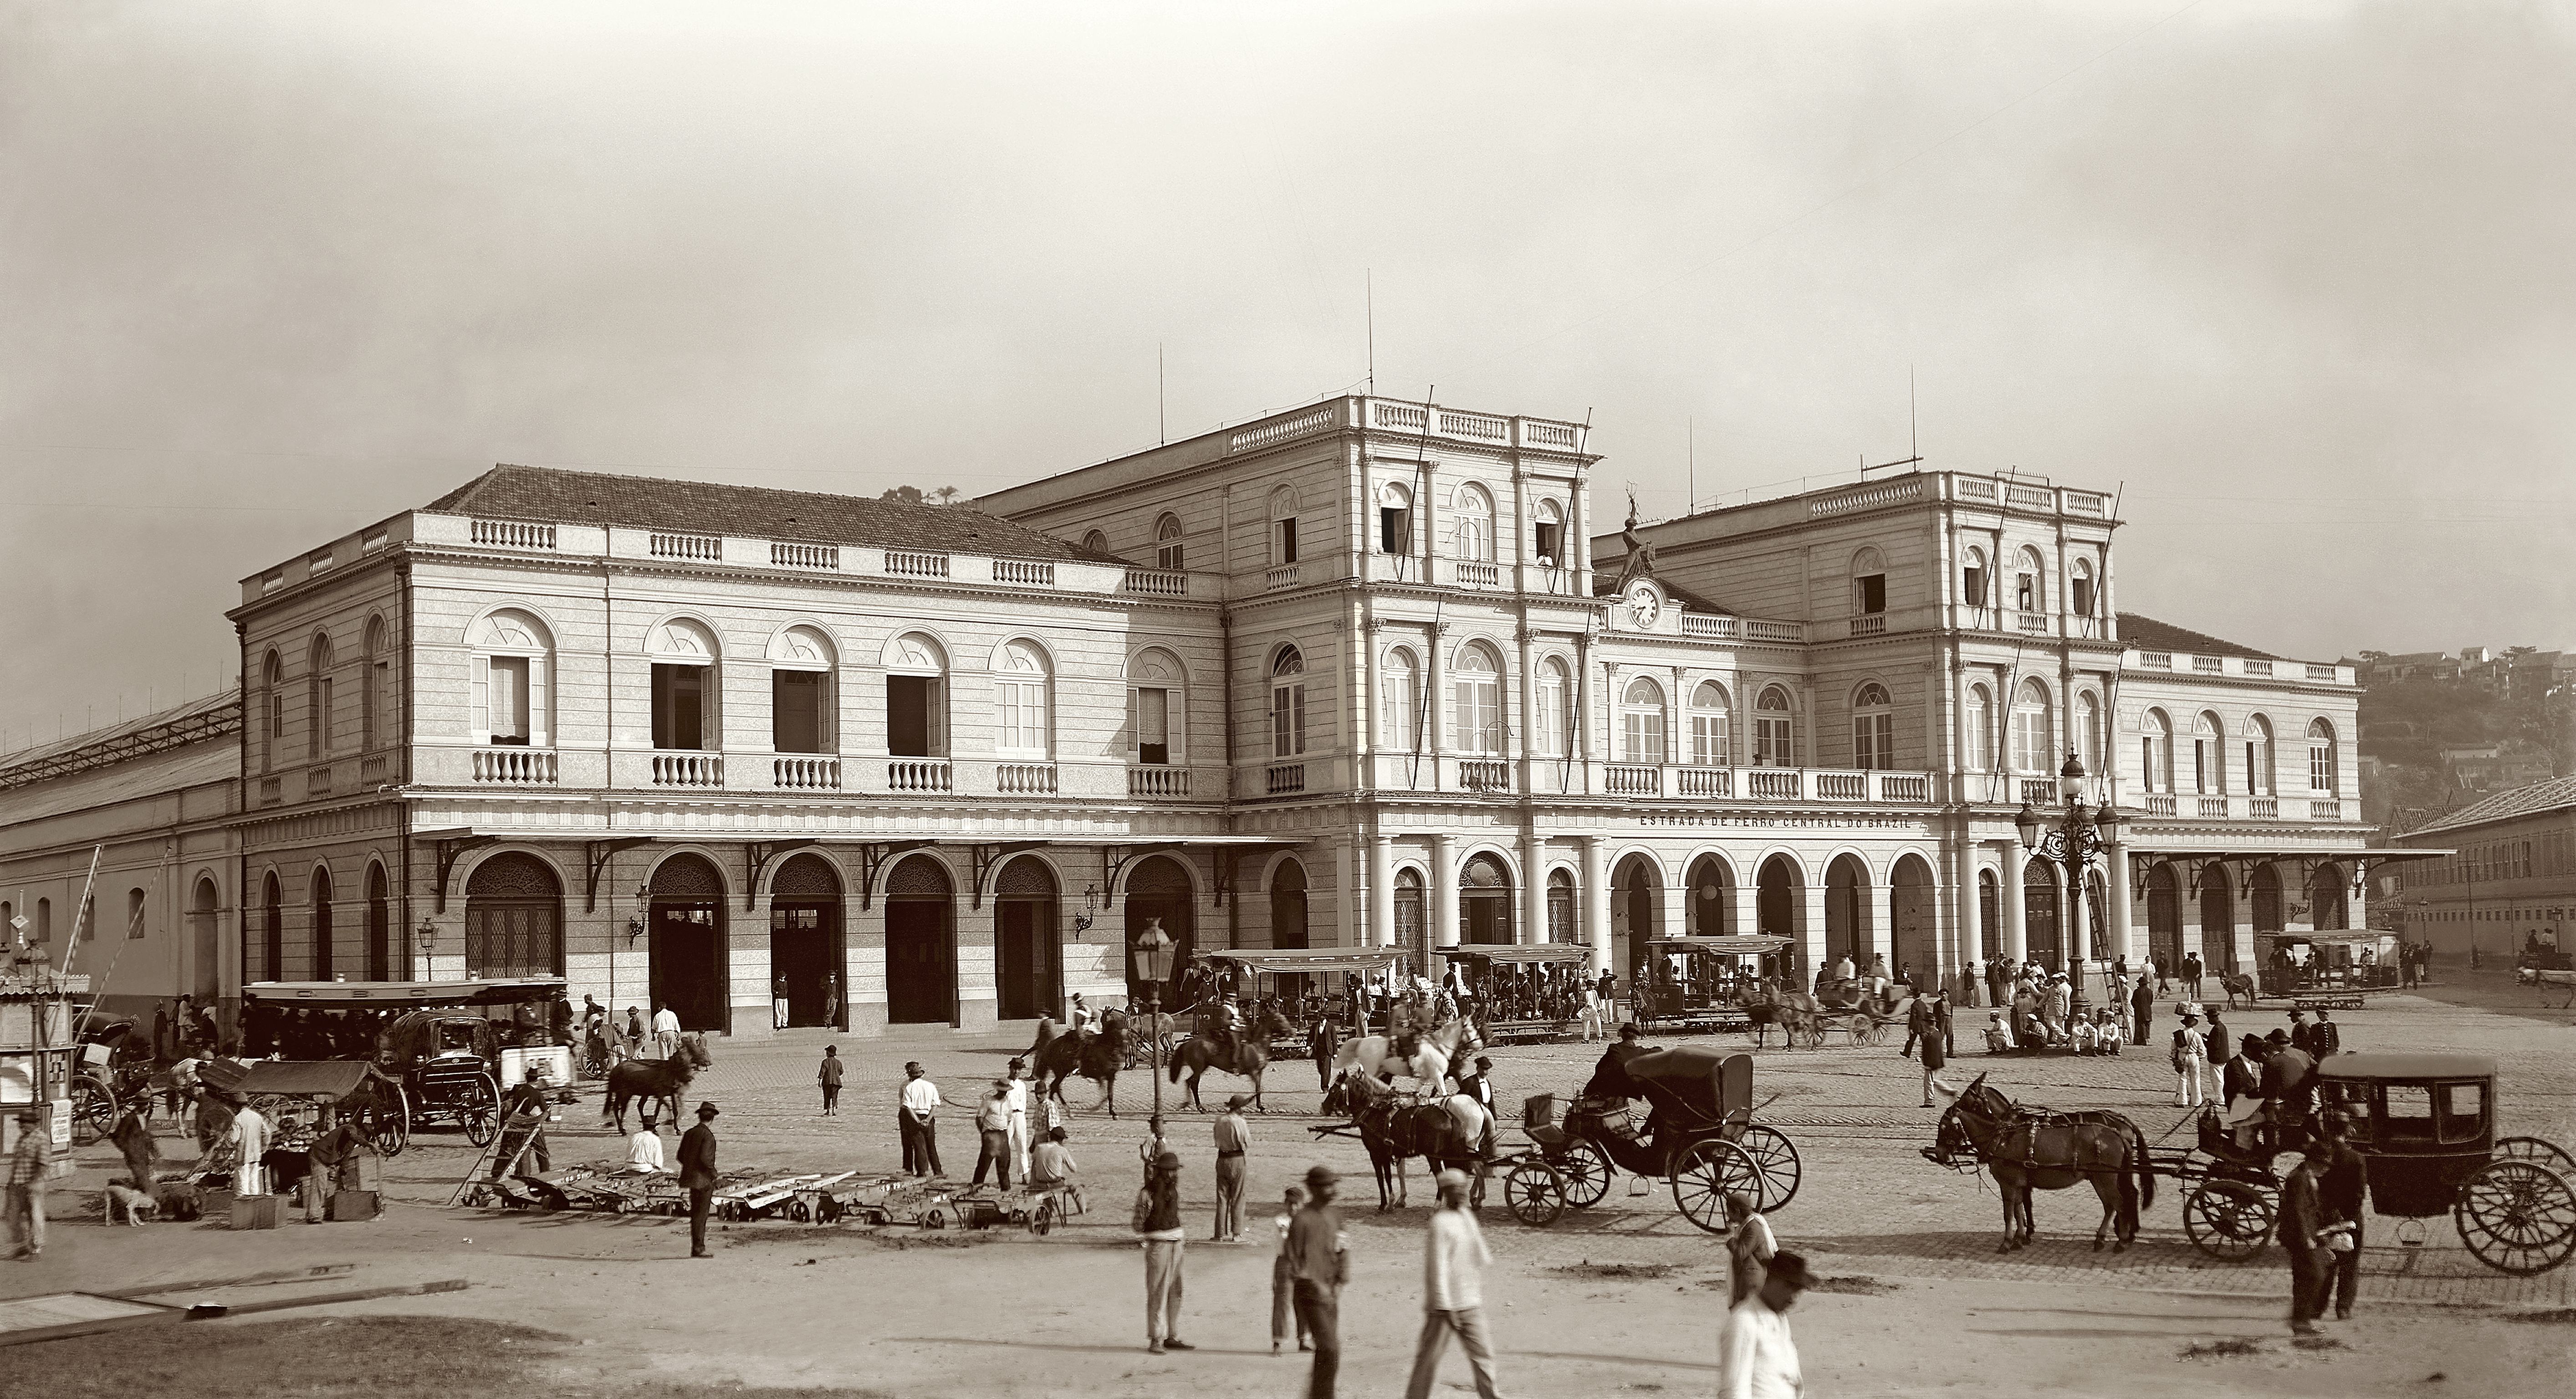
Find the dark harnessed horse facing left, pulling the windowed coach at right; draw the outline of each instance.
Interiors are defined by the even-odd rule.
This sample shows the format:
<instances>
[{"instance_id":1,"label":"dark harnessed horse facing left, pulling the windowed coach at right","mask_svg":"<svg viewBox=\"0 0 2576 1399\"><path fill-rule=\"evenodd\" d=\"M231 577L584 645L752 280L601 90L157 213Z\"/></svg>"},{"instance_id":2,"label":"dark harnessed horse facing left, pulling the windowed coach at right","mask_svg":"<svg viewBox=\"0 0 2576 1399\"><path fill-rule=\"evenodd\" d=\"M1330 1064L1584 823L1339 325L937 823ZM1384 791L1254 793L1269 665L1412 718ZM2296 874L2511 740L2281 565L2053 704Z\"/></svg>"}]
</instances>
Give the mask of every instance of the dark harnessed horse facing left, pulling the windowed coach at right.
<instances>
[{"instance_id":1,"label":"dark harnessed horse facing left, pulling the windowed coach at right","mask_svg":"<svg viewBox=\"0 0 2576 1399\"><path fill-rule=\"evenodd\" d=\"M2128 1252L2138 1239L2138 1211L2156 1203L2156 1175L2146 1165L2146 1134L2128 1118L2112 1123L2089 1113L2030 1113L1986 1087L1986 1074L1958 1092L1935 1087L1950 1100L1935 1154L1976 1157L2004 1195L2004 1242L1994 1252L2020 1250L2038 1237L2032 1190L2066 1190L2079 1180L2102 1201L2094 1252L2102 1252L2107 1232L2117 1234L2112 1252Z\"/></svg>"}]
</instances>

